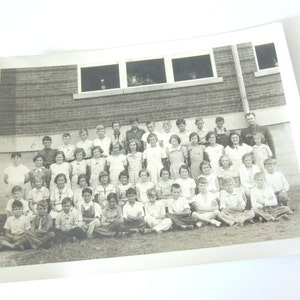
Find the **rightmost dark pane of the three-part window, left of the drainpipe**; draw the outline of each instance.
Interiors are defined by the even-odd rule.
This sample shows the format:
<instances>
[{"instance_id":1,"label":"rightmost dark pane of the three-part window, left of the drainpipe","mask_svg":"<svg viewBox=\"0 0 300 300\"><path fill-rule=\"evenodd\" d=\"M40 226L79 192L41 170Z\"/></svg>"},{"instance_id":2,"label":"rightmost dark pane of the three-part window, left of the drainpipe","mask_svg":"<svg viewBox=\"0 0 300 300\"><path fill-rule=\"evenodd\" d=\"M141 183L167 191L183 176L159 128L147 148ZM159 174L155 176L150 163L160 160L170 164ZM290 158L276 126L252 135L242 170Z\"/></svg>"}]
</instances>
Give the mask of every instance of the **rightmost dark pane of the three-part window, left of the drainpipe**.
<instances>
[{"instance_id":1,"label":"rightmost dark pane of the three-part window, left of the drainpipe","mask_svg":"<svg viewBox=\"0 0 300 300\"><path fill-rule=\"evenodd\" d=\"M210 55L172 59L174 80L192 80L213 77Z\"/></svg>"}]
</instances>

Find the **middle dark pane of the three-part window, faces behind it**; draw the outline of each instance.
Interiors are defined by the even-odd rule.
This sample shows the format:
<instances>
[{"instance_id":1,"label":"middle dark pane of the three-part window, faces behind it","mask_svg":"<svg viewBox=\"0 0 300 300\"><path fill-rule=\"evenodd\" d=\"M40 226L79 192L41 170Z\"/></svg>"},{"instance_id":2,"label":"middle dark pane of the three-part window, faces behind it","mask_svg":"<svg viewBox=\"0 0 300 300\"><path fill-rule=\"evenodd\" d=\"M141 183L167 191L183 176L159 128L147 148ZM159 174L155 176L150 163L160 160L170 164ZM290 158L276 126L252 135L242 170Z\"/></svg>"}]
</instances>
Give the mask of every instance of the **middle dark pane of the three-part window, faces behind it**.
<instances>
[{"instance_id":1,"label":"middle dark pane of the three-part window, faces behind it","mask_svg":"<svg viewBox=\"0 0 300 300\"><path fill-rule=\"evenodd\" d=\"M166 83L164 60L151 59L126 63L128 87Z\"/></svg>"}]
</instances>

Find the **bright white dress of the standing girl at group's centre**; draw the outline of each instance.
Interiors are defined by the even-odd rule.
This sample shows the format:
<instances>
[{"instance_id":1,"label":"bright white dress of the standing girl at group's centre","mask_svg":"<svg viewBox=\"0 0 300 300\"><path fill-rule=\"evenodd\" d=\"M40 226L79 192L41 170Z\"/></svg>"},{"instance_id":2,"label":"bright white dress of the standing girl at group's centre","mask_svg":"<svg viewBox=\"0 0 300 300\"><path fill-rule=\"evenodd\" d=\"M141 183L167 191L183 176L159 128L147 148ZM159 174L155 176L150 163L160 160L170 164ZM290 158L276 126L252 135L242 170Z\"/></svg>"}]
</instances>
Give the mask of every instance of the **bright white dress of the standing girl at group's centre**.
<instances>
[{"instance_id":1,"label":"bright white dress of the standing girl at group's centre","mask_svg":"<svg viewBox=\"0 0 300 300\"><path fill-rule=\"evenodd\" d=\"M150 173L150 179L157 184L160 170L163 168L162 159L166 158L165 149L161 147L149 147L143 153L143 159L147 160L147 170Z\"/></svg>"}]
</instances>

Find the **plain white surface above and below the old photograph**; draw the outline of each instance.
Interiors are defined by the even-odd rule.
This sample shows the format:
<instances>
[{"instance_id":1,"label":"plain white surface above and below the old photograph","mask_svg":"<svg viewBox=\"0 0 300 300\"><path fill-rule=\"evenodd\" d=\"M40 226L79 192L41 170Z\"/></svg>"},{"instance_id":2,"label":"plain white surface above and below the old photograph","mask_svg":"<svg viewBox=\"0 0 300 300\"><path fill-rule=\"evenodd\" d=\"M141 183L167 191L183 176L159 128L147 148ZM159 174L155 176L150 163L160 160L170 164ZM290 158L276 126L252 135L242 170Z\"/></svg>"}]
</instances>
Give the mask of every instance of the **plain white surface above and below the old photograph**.
<instances>
[{"instance_id":1,"label":"plain white surface above and below the old photograph","mask_svg":"<svg viewBox=\"0 0 300 300\"><path fill-rule=\"evenodd\" d=\"M300 87L299 1L206 2L0 0L0 56L109 48L280 21ZM83 278L76 274L0 284L0 297L300 299L299 270L297 255Z\"/></svg>"}]
</instances>

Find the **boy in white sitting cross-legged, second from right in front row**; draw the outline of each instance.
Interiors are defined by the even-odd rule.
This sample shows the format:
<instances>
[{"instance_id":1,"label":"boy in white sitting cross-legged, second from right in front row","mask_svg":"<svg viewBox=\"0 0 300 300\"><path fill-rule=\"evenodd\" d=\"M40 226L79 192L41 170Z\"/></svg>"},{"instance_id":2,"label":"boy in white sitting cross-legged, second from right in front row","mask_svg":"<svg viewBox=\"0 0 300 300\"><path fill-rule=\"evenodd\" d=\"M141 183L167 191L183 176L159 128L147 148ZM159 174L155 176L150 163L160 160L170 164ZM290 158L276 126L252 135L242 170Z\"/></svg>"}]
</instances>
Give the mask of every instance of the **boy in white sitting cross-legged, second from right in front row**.
<instances>
[{"instance_id":1,"label":"boy in white sitting cross-legged, second from right in front row","mask_svg":"<svg viewBox=\"0 0 300 300\"><path fill-rule=\"evenodd\" d=\"M245 201L239 190L234 189L235 181L232 177L223 179L224 190L220 193L220 209L219 219L229 226L235 224L244 226L246 221L254 218L255 214L252 210L245 210Z\"/></svg>"}]
</instances>

